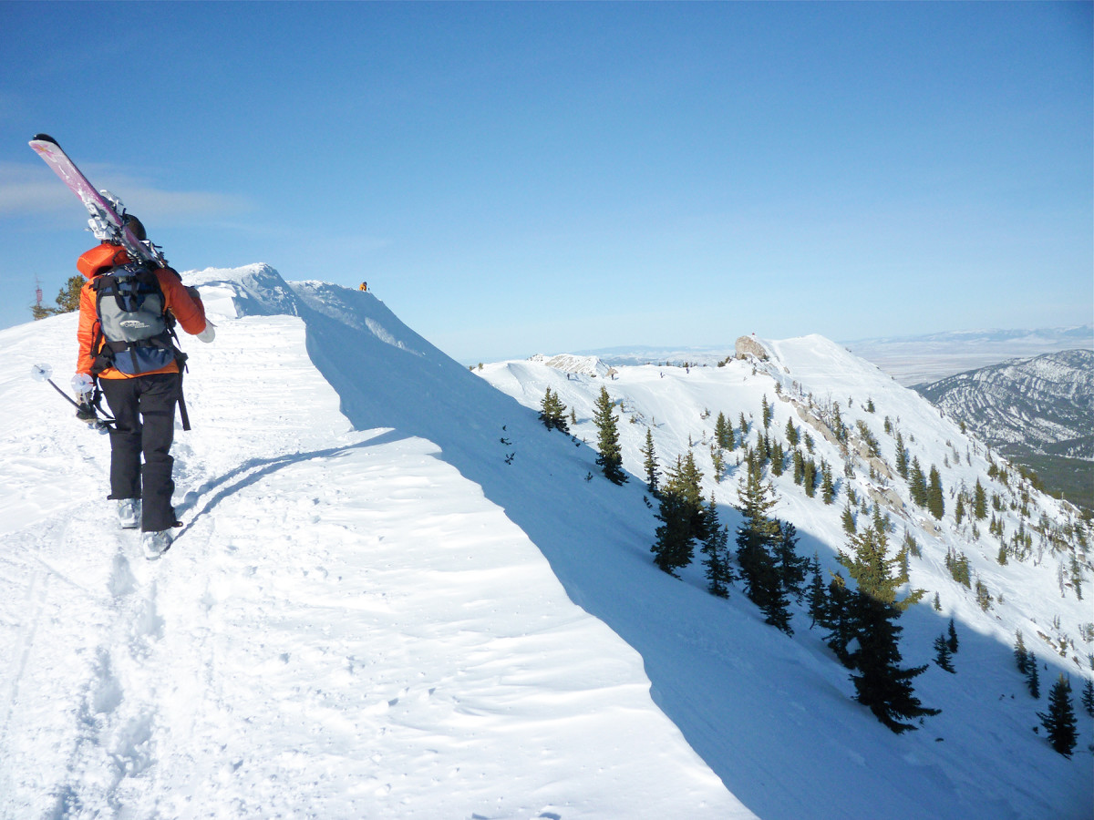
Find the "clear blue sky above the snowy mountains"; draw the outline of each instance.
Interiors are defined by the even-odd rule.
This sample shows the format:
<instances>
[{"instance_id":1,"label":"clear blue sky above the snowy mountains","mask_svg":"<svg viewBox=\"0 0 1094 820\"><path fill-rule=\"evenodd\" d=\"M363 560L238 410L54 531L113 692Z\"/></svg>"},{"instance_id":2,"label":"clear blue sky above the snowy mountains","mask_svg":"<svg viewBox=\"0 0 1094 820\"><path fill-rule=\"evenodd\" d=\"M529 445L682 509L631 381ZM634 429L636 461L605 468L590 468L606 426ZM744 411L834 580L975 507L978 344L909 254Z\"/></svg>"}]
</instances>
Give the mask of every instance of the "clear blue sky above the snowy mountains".
<instances>
[{"instance_id":1,"label":"clear blue sky above the snowy mountains","mask_svg":"<svg viewBox=\"0 0 1094 820\"><path fill-rule=\"evenodd\" d=\"M0 326L93 244L464 362L1094 314L1091 3L0 3Z\"/></svg>"}]
</instances>

